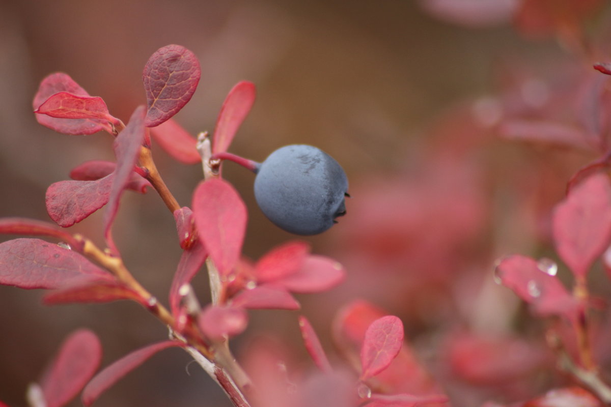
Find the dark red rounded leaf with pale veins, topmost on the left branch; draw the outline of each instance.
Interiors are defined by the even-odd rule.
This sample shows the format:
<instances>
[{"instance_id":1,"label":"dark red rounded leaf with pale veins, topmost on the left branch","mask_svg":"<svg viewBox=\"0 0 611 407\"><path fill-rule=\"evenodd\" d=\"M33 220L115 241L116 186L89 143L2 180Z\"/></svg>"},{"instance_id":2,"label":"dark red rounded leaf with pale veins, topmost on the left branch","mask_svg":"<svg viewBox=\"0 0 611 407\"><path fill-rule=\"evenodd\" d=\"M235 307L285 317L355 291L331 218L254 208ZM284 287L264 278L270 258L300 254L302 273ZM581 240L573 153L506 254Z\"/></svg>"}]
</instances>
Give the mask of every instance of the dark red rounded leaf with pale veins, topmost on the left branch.
<instances>
[{"instance_id":1,"label":"dark red rounded leaf with pale veins, topmost on the left branch","mask_svg":"<svg viewBox=\"0 0 611 407\"><path fill-rule=\"evenodd\" d=\"M191 100L201 70L193 52L180 45L159 48L148 59L142 72L147 94L147 117L144 125L155 127Z\"/></svg>"}]
</instances>

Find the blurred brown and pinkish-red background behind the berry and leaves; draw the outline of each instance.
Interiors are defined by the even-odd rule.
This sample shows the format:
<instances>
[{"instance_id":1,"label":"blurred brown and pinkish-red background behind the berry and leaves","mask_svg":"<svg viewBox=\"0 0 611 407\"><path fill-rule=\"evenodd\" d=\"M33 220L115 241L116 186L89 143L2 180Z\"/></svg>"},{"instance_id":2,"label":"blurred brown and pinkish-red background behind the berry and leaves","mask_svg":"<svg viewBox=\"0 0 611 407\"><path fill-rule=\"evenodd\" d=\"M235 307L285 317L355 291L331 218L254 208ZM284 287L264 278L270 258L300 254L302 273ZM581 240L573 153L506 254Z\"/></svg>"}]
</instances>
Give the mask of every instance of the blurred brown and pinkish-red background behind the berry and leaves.
<instances>
[{"instance_id":1,"label":"blurred brown and pinkish-red background behind the berry and leaves","mask_svg":"<svg viewBox=\"0 0 611 407\"><path fill-rule=\"evenodd\" d=\"M473 2L459 3L472 7ZM282 145L307 143L331 154L348 173L353 196L346 203L348 214L331 230L307 238L315 253L335 257L348 269L342 286L299 297L300 312L312 321L324 347L334 355L329 332L337 310L367 299L403 319L422 363L450 394L461 394L467 385L448 379L450 367L437 360L445 334L466 327L513 331L519 302L492 283L494 260L514 252L549 254L549 246L541 245L549 240L548 210L562 199L571 173L594 156L508 143L496 137L494 126L511 110L507 106L516 106L511 97L546 105L552 75L556 84L568 84L559 71L585 71L591 61L576 57L570 41L558 41L554 32L535 38L516 31L508 10L518 2L499 0L499 7L481 15L450 12L449 17L443 4L4 0L0 216L49 220L49 184L67 179L71 168L86 160L114 159L108 134L68 136L37 124L32 98L43 77L70 74L90 95L102 96L112 115L127 121L145 104L141 77L148 57L161 46L183 45L202 66L197 92L175 117L193 135L213 130L225 95L246 79L257 85L257 101L230 151L263 160ZM595 20L608 14L598 7ZM600 43L611 43L608 30L596 24ZM178 164L158 148L153 154L170 190L180 204L189 205L201 168ZM295 239L260 213L251 173L228 163L224 175L249 208L245 256L257 259ZM102 244L100 224L101 211L73 230ZM163 202L152 192L126 193L115 225L128 267L166 301L180 248ZM197 276L194 285L206 301L206 276ZM167 337L166 329L133 303L49 308L41 297L36 290L0 287L0 400L11 406L26 405L27 384L37 380L76 328L98 334L103 366ZM297 315L252 312L249 329L235 340L236 353L249 338L271 334L303 356L300 366L307 366ZM497 390L492 386L456 405L534 391L532 386L511 387L512 395ZM167 350L97 405L230 403L188 355Z\"/></svg>"}]
</instances>

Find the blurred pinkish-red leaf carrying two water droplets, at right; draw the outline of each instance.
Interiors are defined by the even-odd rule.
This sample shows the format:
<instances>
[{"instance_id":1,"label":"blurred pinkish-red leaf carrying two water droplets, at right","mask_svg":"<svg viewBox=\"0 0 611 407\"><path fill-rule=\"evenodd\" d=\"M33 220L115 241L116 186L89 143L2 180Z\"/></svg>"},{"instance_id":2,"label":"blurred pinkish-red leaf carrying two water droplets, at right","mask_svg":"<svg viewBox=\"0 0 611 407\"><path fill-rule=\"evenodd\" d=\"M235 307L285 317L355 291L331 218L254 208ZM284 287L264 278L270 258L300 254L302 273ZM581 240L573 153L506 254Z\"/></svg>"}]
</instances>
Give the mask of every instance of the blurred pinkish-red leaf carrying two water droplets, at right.
<instances>
[{"instance_id":1,"label":"blurred pinkish-red leaf carrying two water droplets, at right","mask_svg":"<svg viewBox=\"0 0 611 407\"><path fill-rule=\"evenodd\" d=\"M577 301L556 276L549 275L535 260L526 256L508 256L497 264L494 272L503 286L532 304L536 314L574 318Z\"/></svg>"}]
</instances>

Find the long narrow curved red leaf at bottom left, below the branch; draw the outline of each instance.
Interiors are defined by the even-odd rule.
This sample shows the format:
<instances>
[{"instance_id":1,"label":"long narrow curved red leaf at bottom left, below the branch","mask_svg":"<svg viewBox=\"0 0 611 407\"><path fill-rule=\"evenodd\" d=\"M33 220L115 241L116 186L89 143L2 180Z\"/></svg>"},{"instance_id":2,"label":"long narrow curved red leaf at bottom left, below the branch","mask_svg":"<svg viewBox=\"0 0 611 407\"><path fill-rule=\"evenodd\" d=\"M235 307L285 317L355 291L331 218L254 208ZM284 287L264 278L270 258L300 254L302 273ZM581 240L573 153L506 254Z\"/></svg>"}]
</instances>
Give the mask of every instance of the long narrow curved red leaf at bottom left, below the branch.
<instances>
[{"instance_id":1,"label":"long narrow curved red leaf at bottom left, below the branch","mask_svg":"<svg viewBox=\"0 0 611 407\"><path fill-rule=\"evenodd\" d=\"M117 383L117 381L127 373L136 369L136 367L140 366L148 358L155 355L155 353L171 347L184 346L182 342L178 342L177 340L166 340L164 342L148 345L147 347L133 351L129 355L123 356L123 358L101 370L101 372L95 375L92 381L85 386L81 395L82 403L86 406L92 405L104 391Z\"/></svg>"}]
</instances>

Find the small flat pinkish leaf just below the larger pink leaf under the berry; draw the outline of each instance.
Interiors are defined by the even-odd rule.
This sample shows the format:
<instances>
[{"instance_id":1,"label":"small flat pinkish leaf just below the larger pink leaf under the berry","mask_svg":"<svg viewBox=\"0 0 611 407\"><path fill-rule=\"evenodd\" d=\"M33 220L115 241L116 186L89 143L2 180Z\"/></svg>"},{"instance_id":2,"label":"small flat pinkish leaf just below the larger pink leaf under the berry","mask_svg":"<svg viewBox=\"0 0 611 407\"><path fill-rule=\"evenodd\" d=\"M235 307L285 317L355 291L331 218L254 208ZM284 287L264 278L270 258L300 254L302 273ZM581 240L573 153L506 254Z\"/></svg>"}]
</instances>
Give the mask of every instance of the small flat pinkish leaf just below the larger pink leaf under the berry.
<instances>
[{"instance_id":1,"label":"small flat pinkish leaf just below the larger pink leaf under the berry","mask_svg":"<svg viewBox=\"0 0 611 407\"><path fill-rule=\"evenodd\" d=\"M232 298L236 307L248 309L299 309L299 303L283 287L263 284L242 290Z\"/></svg>"}]
</instances>

